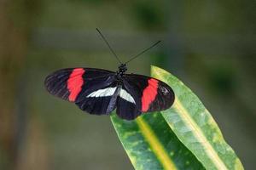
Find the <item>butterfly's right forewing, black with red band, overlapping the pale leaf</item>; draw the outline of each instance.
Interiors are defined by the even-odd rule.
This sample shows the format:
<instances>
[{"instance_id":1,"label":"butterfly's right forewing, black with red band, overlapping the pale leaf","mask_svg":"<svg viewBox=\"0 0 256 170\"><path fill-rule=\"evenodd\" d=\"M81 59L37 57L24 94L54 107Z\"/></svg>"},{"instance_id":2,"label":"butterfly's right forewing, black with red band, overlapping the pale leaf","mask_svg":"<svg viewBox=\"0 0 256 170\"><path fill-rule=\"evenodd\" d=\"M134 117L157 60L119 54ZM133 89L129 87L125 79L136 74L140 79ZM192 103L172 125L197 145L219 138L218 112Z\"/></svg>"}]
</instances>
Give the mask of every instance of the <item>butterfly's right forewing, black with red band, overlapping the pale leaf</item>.
<instances>
[{"instance_id":1,"label":"butterfly's right forewing, black with red band, overlapping the pale leaf","mask_svg":"<svg viewBox=\"0 0 256 170\"><path fill-rule=\"evenodd\" d=\"M174 102L172 88L165 82L136 74L127 74L124 79L124 86L136 100L138 111L163 111Z\"/></svg>"}]
</instances>

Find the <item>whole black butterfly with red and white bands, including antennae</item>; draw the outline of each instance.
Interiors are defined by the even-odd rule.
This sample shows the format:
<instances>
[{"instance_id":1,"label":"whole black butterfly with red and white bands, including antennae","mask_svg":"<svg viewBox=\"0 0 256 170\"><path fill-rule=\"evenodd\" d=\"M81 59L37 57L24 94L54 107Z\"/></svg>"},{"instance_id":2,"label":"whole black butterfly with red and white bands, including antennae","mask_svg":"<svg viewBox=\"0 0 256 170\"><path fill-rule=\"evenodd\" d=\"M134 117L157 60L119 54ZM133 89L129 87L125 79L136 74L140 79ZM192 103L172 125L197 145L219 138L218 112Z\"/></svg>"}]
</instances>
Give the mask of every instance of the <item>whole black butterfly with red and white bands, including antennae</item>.
<instances>
[{"instance_id":1,"label":"whole black butterfly with red and white bands, including antennae","mask_svg":"<svg viewBox=\"0 0 256 170\"><path fill-rule=\"evenodd\" d=\"M113 52L109 44L108 47ZM146 112L170 108L175 99L172 88L153 77L126 74L128 62L120 62L115 72L96 68L61 69L46 77L44 84L49 94L73 102L93 115L109 115L116 109L120 118L133 120Z\"/></svg>"}]
</instances>

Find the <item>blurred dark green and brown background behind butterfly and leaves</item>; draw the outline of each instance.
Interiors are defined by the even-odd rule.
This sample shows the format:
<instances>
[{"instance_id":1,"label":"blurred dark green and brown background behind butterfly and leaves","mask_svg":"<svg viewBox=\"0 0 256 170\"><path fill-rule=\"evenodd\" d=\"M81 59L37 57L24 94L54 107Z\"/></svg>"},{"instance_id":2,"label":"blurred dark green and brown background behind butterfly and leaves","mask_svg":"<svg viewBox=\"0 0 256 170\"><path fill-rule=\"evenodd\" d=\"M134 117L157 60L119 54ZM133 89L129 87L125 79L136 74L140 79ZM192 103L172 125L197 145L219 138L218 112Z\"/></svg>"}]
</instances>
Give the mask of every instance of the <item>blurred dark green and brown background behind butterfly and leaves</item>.
<instances>
[{"instance_id":1,"label":"blurred dark green and brown background behind butterfly and leaves","mask_svg":"<svg viewBox=\"0 0 256 170\"><path fill-rule=\"evenodd\" d=\"M0 169L132 169L108 116L49 95L65 67L171 71L197 94L246 169L256 166L255 3L173 0L1 0Z\"/></svg>"}]
</instances>

